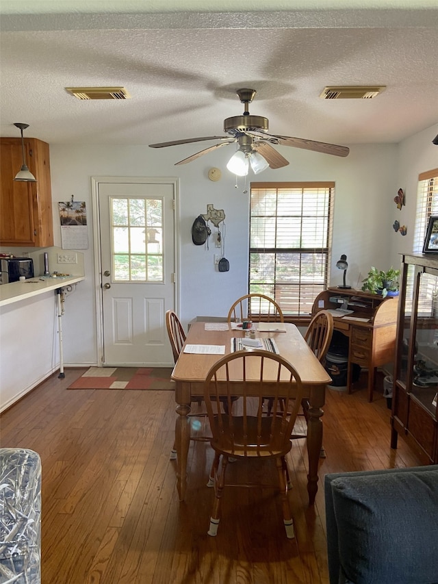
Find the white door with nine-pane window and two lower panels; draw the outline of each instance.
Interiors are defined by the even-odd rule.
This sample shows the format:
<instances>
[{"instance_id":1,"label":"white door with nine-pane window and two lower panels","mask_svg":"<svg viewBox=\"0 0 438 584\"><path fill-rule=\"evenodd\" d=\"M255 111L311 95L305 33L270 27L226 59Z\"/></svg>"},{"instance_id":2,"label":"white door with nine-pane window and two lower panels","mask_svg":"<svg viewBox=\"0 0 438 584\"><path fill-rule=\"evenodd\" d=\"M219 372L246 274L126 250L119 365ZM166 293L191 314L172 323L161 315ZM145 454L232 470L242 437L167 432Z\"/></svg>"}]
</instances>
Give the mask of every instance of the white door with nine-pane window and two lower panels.
<instances>
[{"instance_id":1,"label":"white door with nine-pane window and two lower panels","mask_svg":"<svg viewBox=\"0 0 438 584\"><path fill-rule=\"evenodd\" d=\"M103 365L171 366L175 183L99 182Z\"/></svg>"}]
</instances>

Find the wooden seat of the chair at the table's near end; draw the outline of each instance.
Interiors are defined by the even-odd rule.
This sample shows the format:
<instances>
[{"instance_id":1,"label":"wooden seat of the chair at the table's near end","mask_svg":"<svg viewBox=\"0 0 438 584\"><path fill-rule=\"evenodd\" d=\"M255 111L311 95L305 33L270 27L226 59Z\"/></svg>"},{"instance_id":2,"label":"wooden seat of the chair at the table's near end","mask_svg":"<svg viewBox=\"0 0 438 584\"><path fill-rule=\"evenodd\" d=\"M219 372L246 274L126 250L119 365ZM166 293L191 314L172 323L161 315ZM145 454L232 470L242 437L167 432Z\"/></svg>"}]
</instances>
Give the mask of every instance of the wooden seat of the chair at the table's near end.
<instances>
[{"instance_id":1,"label":"wooden seat of the chair at the table's near end","mask_svg":"<svg viewBox=\"0 0 438 584\"><path fill-rule=\"evenodd\" d=\"M285 445L280 436L278 444L276 444L276 440L272 440L274 433L272 422L275 426L280 427L280 419L261 418L261 420L257 420L255 417L247 416L246 428L244 428L243 416L233 416L232 428L230 420L229 416L222 416L222 428L219 429L217 416L215 418L216 431L212 430L212 433L217 438L214 437L211 440L211 446L221 454L232 457L272 458L285 456L292 448L292 444L287 442ZM261 422L260 428L259 422ZM277 433L276 430L275 433Z\"/></svg>"}]
</instances>

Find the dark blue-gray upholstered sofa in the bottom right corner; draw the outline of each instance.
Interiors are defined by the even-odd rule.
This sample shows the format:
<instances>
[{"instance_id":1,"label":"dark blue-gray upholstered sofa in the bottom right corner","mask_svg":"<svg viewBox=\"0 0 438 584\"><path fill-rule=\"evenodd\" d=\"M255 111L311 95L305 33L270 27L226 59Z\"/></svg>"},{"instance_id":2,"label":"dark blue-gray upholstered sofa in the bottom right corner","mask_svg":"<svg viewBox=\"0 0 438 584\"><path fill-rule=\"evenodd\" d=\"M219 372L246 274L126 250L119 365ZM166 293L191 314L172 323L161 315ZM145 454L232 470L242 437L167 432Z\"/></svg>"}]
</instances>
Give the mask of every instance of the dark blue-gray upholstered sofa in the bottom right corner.
<instances>
[{"instance_id":1,"label":"dark blue-gray upholstered sofa in the bottom right corner","mask_svg":"<svg viewBox=\"0 0 438 584\"><path fill-rule=\"evenodd\" d=\"M438 465L326 474L330 584L438 583Z\"/></svg>"}]
</instances>

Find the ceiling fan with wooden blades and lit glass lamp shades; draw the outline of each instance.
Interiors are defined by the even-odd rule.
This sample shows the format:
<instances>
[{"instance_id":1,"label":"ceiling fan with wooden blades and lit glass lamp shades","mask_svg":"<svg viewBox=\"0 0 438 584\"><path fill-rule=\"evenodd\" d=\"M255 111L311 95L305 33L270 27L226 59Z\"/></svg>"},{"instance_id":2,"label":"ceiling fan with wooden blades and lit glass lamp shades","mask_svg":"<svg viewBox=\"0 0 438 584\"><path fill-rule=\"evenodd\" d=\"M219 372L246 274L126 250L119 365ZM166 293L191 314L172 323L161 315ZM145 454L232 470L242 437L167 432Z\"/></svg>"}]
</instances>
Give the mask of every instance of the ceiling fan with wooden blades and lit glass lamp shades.
<instances>
[{"instance_id":1,"label":"ceiling fan with wooden blades and lit glass lamp shades","mask_svg":"<svg viewBox=\"0 0 438 584\"><path fill-rule=\"evenodd\" d=\"M326 144L326 142L315 142L314 140L305 140L303 138L292 138L292 136L276 136L268 134L268 118L263 116L251 116L248 110L248 104L251 103L257 93L255 89L238 89L236 91L240 101L245 104L242 116L233 116L224 120L224 132L228 136L203 136L202 138L185 138L183 140L172 140L171 142L159 142L149 144L151 148L164 148L175 146L177 144L189 144L190 142L203 142L203 140L219 140L217 144L205 148L191 156L180 160L175 164L187 164L196 160L196 158L212 152L222 146L237 143L238 149L231 157L227 168L236 175L245 176L248 174L249 166L254 173L260 173L268 168L282 168L289 162L279 152L272 148L271 144L280 144L281 146L292 146L324 154L333 154L335 156L347 156L350 152L345 146L337 144Z\"/></svg>"}]
</instances>

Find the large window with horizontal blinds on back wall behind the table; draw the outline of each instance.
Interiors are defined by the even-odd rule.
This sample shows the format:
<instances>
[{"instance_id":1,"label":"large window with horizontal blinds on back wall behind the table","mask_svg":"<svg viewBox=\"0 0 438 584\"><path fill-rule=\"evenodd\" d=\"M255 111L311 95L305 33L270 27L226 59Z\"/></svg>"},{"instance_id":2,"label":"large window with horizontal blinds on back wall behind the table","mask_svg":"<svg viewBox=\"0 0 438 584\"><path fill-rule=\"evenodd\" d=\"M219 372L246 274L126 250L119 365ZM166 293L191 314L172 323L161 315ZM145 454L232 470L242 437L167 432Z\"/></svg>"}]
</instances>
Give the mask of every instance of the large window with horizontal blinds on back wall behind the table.
<instances>
[{"instance_id":1,"label":"large window with horizontal blinds on back wall behind the table","mask_svg":"<svg viewBox=\"0 0 438 584\"><path fill-rule=\"evenodd\" d=\"M252 183L249 292L309 316L328 285L335 183Z\"/></svg>"}]
</instances>

